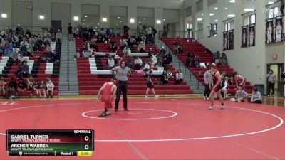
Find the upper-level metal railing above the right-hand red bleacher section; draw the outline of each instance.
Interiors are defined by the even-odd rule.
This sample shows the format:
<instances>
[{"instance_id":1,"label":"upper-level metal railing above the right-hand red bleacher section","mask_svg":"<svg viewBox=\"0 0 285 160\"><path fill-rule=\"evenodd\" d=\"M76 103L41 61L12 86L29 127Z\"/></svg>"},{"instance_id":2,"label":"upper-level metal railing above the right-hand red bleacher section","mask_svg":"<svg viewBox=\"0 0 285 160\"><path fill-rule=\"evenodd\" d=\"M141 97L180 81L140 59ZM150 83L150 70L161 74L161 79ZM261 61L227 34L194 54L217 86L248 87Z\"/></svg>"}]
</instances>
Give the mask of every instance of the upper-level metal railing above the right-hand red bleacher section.
<instances>
[{"instance_id":1,"label":"upper-level metal railing above the right-hand red bleacher section","mask_svg":"<svg viewBox=\"0 0 285 160\"><path fill-rule=\"evenodd\" d=\"M193 38L192 30L189 31L159 31L159 38Z\"/></svg>"}]
</instances>

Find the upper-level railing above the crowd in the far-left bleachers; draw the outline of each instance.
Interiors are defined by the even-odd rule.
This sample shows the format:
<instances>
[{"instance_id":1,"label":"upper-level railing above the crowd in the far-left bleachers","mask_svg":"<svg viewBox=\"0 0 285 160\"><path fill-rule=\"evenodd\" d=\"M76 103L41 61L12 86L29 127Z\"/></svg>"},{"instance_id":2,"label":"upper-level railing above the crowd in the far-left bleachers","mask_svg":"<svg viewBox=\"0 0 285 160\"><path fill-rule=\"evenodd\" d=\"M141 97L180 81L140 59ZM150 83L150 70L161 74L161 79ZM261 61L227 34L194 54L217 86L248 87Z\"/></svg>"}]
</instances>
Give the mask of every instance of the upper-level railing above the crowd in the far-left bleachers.
<instances>
[{"instance_id":1,"label":"upper-level railing above the crowd in the far-left bleachers","mask_svg":"<svg viewBox=\"0 0 285 160\"><path fill-rule=\"evenodd\" d=\"M26 31L31 31L32 34L41 34L47 33L51 26L6 26L6 25L0 25L0 31L6 31L7 28L11 28L11 30L16 31L16 28L23 28L24 33ZM47 31L48 30L48 31Z\"/></svg>"}]
</instances>

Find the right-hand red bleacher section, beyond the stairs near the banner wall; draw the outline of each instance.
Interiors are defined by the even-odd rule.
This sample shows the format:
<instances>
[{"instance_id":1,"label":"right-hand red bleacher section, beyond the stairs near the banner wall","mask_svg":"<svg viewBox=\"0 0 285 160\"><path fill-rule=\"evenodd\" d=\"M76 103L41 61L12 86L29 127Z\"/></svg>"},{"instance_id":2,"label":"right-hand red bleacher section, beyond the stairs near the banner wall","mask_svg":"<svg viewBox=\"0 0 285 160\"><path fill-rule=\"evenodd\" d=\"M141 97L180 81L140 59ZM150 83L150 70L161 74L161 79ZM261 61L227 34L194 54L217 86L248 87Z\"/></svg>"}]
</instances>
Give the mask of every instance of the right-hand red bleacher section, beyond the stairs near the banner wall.
<instances>
[{"instance_id":1,"label":"right-hand red bleacher section, beyond the stairs near the banner wall","mask_svg":"<svg viewBox=\"0 0 285 160\"><path fill-rule=\"evenodd\" d=\"M182 43L183 46L183 53L178 53L177 56L180 58L182 63L186 65L187 60L187 53L193 52L195 55L198 55L201 59L201 62L203 63L212 63L213 58L212 55L206 53L205 47L202 46L201 43L198 41L189 41L187 42L187 38L162 38L162 41L165 42L165 44L173 50L175 47L175 43ZM204 84L204 72L207 70L205 68L189 68L190 71L195 75L197 80L199 82L202 82ZM233 68L230 68L228 65L218 65L219 71L225 71L226 75L232 75L233 73L237 73L234 71ZM235 82L234 82L235 84ZM228 87L228 93L235 93L237 90L235 89L235 85L229 85ZM245 87L246 92L252 92L252 86L250 85L250 82L246 82Z\"/></svg>"}]
</instances>

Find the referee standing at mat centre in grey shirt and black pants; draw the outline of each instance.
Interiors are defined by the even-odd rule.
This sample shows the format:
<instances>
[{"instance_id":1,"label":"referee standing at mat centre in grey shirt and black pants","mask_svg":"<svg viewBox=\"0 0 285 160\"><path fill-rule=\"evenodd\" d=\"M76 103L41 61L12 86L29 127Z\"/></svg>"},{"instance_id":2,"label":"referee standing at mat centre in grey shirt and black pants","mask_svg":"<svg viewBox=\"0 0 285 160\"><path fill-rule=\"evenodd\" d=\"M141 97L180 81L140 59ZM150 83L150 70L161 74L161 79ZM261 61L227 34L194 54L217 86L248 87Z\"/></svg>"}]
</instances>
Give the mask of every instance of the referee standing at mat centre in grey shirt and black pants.
<instances>
[{"instance_id":1,"label":"referee standing at mat centre in grey shirt and black pants","mask_svg":"<svg viewBox=\"0 0 285 160\"><path fill-rule=\"evenodd\" d=\"M111 73L115 75L115 78L118 80L115 100L115 112L118 112L121 92L123 92L124 110L128 111L127 90L130 68L126 67L125 65L125 61L121 61L120 66L115 67L111 70Z\"/></svg>"}]
</instances>

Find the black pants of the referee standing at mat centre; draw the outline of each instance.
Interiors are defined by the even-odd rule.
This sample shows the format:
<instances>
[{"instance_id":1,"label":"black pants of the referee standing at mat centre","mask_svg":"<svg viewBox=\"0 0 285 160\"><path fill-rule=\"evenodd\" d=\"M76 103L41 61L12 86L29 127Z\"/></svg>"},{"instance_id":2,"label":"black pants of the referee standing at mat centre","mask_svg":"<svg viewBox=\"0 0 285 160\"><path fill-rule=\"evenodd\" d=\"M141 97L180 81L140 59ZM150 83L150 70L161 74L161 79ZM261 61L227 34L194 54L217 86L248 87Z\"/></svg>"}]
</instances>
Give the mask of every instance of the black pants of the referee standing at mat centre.
<instances>
[{"instance_id":1,"label":"black pants of the referee standing at mat centre","mask_svg":"<svg viewBox=\"0 0 285 160\"><path fill-rule=\"evenodd\" d=\"M115 100L115 109L118 110L118 108L119 108L120 94L122 92L123 92L124 109L128 108L127 90L128 90L128 82L127 81L118 81L117 92L116 92L116 100Z\"/></svg>"}]
</instances>

